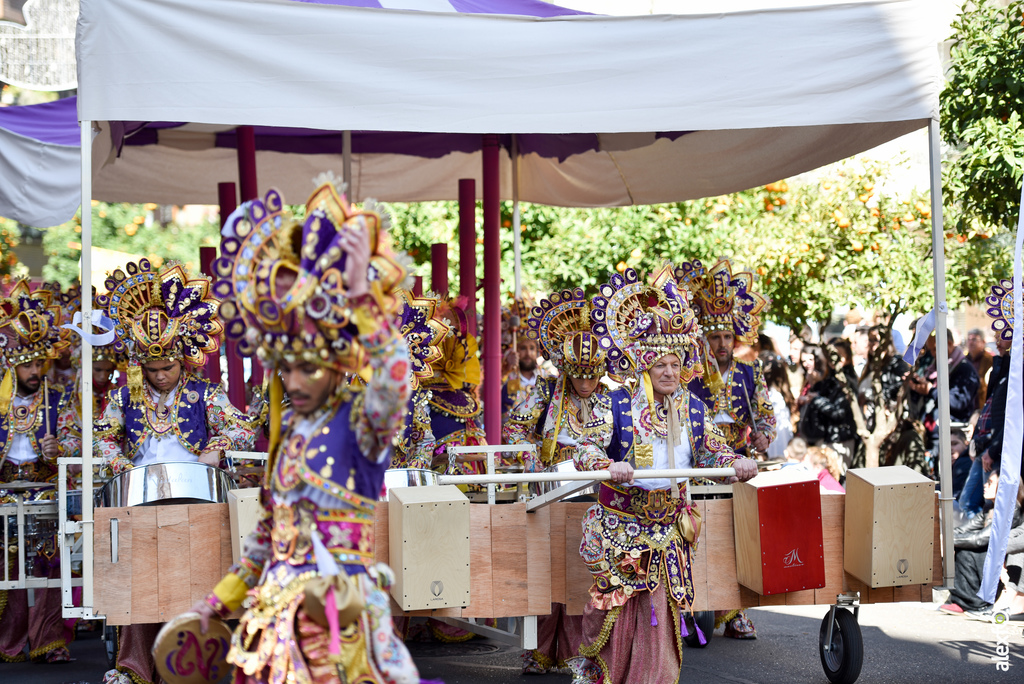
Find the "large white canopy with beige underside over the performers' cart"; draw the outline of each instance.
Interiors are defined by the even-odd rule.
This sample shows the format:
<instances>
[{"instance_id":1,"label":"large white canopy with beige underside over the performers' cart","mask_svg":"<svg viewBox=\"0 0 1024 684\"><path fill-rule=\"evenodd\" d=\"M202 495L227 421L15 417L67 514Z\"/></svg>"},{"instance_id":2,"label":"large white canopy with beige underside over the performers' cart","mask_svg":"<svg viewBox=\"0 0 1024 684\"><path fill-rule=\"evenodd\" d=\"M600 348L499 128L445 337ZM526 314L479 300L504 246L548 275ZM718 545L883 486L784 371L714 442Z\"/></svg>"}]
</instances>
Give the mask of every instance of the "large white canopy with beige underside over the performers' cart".
<instances>
[{"instance_id":1,"label":"large white canopy with beige underside over the performers' cart","mask_svg":"<svg viewBox=\"0 0 1024 684\"><path fill-rule=\"evenodd\" d=\"M763 5L538 18L287 0L82 0L79 116L547 134L520 159L519 197L563 206L742 189L937 117L928 0ZM216 182L234 177L237 161L215 146L212 130L169 129L159 144L126 145L113 163L109 148L97 149L109 163L94 196L214 203ZM568 145L569 154L550 137L581 133L593 143ZM455 199L456 179L480 175L478 151L356 149L352 160L354 199ZM272 151L257 163L261 186L286 197L303 197L308 170L341 165L340 155Z\"/></svg>"}]
</instances>

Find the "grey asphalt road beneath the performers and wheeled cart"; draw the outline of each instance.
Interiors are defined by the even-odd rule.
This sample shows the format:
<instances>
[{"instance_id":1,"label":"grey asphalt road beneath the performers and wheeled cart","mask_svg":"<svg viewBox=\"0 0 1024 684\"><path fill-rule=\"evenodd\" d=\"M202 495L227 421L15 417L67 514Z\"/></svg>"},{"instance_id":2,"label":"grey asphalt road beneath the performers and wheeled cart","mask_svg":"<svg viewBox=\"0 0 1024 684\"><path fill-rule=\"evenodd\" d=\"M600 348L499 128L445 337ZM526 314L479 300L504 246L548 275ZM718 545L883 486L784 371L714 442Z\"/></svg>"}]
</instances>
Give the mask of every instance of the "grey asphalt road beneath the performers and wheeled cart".
<instances>
[{"instance_id":1,"label":"grey asphalt road beneath the performers and wheeled cart","mask_svg":"<svg viewBox=\"0 0 1024 684\"><path fill-rule=\"evenodd\" d=\"M1024 681L1024 624L1002 632L1009 644L1009 670L992 659L997 628L963 616L939 613L936 604L867 605L860 610L864 665L859 682L915 684L932 682ZM702 649L686 649L680 682L825 684L818 655L818 629L826 606L758 608L751 616L756 641L716 635ZM1009 637L1009 638L1007 638ZM410 644L421 675L446 684L522 682L568 684L564 675L526 677L519 672L518 650L485 639L464 644ZM82 635L72 644L68 665L0 664L3 684L98 684L105 656L98 635ZM651 673L651 684L660 684Z\"/></svg>"}]
</instances>

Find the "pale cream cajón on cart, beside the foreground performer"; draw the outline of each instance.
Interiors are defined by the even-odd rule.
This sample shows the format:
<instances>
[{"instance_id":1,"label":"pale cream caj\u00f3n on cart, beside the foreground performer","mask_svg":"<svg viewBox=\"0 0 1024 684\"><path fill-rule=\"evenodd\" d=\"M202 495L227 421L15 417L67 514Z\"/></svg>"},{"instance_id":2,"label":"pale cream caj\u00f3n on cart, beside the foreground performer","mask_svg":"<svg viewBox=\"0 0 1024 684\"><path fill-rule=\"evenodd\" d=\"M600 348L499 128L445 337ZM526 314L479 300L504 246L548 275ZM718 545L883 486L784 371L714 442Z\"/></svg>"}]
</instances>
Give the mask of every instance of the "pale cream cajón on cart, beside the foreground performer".
<instances>
[{"instance_id":1,"label":"pale cream caj\u00f3n on cart, beside the foreground performer","mask_svg":"<svg viewBox=\"0 0 1024 684\"><path fill-rule=\"evenodd\" d=\"M391 596L402 610L468 606L469 500L457 486L388 493Z\"/></svg>"}]
</instances>

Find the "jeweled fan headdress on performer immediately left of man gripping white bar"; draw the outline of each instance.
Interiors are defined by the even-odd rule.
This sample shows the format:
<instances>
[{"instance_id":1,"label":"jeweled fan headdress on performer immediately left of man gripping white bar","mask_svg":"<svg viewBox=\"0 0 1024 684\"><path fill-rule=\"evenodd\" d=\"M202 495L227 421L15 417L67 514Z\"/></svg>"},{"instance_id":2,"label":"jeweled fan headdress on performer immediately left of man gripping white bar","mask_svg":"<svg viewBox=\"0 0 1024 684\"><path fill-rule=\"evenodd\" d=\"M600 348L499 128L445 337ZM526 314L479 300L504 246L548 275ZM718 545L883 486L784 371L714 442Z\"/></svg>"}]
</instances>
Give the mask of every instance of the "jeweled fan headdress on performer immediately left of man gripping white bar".
<instances>
[{"instance_id":1,"label":"jeweled fan headdress on performer immediately left of man gripping white bar","mask_svg":"<svg viewBox=\"0 0 1024 684\"><path fill-rule=\"evenodd\" d=\"M526 319L526 336L541 344L564 376L600 378L607 370L607 353L591 330L590 300L581 288L551 293Z\"/></svg>"}]
</instances>

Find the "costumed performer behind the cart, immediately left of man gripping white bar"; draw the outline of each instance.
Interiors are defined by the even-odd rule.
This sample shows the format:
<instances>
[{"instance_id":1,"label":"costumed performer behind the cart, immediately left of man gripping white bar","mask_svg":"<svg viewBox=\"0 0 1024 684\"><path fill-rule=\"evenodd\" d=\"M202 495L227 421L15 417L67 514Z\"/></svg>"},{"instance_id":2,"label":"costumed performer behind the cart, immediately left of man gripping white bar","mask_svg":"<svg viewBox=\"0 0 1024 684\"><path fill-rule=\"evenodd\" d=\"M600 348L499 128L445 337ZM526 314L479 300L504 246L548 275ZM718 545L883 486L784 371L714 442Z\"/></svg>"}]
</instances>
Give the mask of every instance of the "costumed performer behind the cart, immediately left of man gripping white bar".
<instances>
[{"instance_id":1,"label":"costumed performer behind the cart, immediately left of man gripping white bar","mask_svg":"<svg viewBox=\"0 0 1024 684\"><path fill-rule=\"evenodd\" d=\"M554 293L542 300L526 320L530 344L540 344L560 375L541 379L515 407L504 428L508 444L539 443L536 454L523 453L527 471L572 463L585 435L602 447L611 438L610 410L600 379L606 355L591 330L590 303L583 290ZM544 674L564 668L577 654L583 636L583 616L565 614L561 603L551 604L551 614L538 621L538 648L523 653L523 674Z\"/></svg>"}]
</instances>

